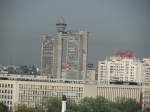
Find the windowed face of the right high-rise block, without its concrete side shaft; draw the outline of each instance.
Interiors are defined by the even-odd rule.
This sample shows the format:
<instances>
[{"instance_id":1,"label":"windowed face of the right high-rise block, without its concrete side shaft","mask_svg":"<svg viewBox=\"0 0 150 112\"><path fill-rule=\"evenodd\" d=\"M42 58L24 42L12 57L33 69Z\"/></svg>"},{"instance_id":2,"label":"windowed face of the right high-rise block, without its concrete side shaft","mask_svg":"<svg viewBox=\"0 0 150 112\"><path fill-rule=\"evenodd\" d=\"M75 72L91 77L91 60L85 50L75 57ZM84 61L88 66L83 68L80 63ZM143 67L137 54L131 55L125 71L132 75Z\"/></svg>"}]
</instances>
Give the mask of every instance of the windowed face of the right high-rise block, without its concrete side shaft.
<instances>
[{"instance_id":1,"label":"windowed face of the right high-rise block, without its concrete side shaft","mask_svg":"<svg viewBox=\"0 0 150 112\"><path fill-rule=\"evenodd\" d=\"M68 34L67 36L67 79L81 79L82 40L83 38L80 38L78 34Z\"/></svg>"}]
</instances>

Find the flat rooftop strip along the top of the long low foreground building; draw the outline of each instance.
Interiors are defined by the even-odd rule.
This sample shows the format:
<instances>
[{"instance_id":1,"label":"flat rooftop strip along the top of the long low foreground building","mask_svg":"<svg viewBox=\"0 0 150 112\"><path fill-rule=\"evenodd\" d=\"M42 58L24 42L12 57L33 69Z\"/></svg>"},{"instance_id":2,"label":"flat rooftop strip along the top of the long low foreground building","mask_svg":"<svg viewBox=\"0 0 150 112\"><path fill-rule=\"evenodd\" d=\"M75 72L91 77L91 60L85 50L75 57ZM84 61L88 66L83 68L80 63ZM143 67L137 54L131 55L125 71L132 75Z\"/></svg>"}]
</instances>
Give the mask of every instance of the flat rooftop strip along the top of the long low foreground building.
<instances>
[{"instance_id":1,"label":"flat rooftop strip along the top of the long low foreground building","mask_svg":"<svg viewBox=\"0 0 150 112\"><path fill-rule=\"evenodd\" d=\"M73 79L53 79L53 78L50 78L50 76L19 75L19 74L0 74L0 80L73 83L73 84L96 84L96 85L98 84L97 81L73 80ZM110 84L113 84L113 85L150 86L150 83L127 82L127 81L102 81L99 84L108 84L108 82L110 82Z\"/></svg>"}]
</instances>

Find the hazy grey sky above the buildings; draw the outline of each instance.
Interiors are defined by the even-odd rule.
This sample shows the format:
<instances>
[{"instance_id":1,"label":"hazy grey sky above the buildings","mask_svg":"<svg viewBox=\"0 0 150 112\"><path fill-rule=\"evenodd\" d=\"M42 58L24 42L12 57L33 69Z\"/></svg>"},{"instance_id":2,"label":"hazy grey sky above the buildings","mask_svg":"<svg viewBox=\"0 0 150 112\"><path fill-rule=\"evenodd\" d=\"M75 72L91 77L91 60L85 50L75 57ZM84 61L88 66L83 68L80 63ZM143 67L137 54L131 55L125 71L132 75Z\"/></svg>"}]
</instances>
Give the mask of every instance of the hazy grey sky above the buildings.
<instances>
[{"instance_id":1,"label":"hazy grey sky above the buildings","mask_svg":"<svg viewBox=\"0 0 150 112\"><path fill-rule=\"evenodd\" d=\"M0 64L40 66L41 35L57 37L61 16L90 32L88 63L118 50L150 57L150 0L1 0Z\"/></svg>"}]
</instances>

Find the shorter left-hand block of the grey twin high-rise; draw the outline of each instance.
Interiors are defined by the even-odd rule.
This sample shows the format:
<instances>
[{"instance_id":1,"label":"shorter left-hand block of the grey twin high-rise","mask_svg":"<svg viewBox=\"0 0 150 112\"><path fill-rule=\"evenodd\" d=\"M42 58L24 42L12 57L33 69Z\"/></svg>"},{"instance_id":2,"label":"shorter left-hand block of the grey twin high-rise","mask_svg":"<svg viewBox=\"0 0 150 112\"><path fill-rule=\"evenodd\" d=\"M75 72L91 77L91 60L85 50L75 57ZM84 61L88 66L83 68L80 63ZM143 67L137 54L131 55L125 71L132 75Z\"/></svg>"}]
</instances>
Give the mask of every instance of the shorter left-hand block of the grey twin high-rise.
<instances>
[{"instance_id":1,"label":"shorter left-hand block of the grey twin high-rise","mask_svg":"<svg viewBox=\"0 0 150 112\"><path fill-rule=\"evenodd\" d=\"M56 78L57 40L42 35L41 74Z\"/></svg>"}]
</instances>

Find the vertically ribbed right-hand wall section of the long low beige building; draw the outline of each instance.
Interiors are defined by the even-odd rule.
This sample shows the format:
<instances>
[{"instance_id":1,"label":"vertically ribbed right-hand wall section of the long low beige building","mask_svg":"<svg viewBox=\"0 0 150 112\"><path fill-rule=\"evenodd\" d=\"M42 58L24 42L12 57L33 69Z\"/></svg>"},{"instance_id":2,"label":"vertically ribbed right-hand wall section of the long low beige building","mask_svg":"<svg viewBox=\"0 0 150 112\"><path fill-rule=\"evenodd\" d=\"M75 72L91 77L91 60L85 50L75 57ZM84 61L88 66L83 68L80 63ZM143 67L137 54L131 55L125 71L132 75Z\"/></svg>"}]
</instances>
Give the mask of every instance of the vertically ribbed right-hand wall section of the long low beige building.
<instances>
[{"instance_id":1,"label":"vertically ribbed right-hand wall section of the long low beige building","mask_svg":"<svg viewBox=\"0 0 150 112\"><path fill-rule=\"evenodd\" d=\"M141 90L141 86L102 84L97 87L97 95L114 102L122 97L125 99L132 98L140 103Z\"/></svg>"}]
</instances>

